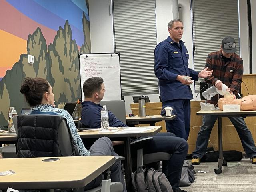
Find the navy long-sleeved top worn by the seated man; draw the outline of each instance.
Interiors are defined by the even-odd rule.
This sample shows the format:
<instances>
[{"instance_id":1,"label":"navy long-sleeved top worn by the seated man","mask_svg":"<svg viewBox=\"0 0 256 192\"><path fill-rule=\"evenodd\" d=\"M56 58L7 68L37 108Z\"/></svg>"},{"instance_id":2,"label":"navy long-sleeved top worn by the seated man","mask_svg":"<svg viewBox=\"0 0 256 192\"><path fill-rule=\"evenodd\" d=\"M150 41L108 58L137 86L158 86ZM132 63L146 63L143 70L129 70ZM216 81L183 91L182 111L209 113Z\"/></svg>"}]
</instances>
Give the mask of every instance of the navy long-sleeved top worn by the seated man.
<instances>
[{"instance_id":1,"label":"navy long-sleeved top worn by the seated man","mask_svg":"<svg viewBox=\"0 0 256 192\"><path fill-rule=\"evenodd\" d=\"M101 118L100 112L102 106L90 101L83 101L82 103L81 121L86 128L100 128ZM107 106L108 108L108 106ZM110 127L127 127L122 121L120 121L114 113L108 111L108 122Z\"/></svg>"}]
</instances>

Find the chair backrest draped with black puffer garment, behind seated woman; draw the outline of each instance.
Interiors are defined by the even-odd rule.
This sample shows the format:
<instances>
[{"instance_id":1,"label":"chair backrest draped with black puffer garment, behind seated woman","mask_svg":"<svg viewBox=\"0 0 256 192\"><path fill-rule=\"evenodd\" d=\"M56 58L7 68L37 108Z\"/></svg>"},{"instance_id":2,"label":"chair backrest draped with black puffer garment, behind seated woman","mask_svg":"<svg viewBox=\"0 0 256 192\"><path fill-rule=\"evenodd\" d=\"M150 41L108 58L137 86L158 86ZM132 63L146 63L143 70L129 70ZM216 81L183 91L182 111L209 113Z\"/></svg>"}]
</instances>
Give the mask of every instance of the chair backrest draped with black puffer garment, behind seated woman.
<instances>
[{"instance_id":1,"label":"chair backrest draped with black puffer garment, behind seated woman","mask_svg":"<svg viewBox=\"0 0 256 192\"><path fill-rule=\"evenodd\" d=\"M66 119L58 115L17 116L17 156L75 156L71 131Z\"/></svg>"}]
</instances>

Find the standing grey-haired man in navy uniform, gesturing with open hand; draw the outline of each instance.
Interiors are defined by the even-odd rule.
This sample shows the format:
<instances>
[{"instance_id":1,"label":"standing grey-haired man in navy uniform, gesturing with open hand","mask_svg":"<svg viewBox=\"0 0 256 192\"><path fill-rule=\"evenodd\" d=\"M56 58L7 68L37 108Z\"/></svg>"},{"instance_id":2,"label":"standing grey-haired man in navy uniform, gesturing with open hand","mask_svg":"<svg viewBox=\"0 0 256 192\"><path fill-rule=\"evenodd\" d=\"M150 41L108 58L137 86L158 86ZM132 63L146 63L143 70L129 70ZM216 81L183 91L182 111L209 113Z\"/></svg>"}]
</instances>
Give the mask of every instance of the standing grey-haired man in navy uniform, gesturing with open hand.
<instances>
[{"instance_id":1,"label":"standing grey-haired man in navy uniform, gesturing with open hand","mask_svg":"<svg viewBox=\"0 0 256 192\"><path fill-rule=\"evenodd\" d=\"M188 68L188 50L181 40L183 23L179 19L168 23L170 36L160 42L155 48L155 75L159 80L160 95L164 109L166 106L173 108L177 118L166 121L168 132L177 137L188 140L190 130L190 100L193 98L190 84L198 77L211 76L212 70L205 68L196 72ZM162 110L161 115L164 114Z\"/></svg>"}]
</instances>

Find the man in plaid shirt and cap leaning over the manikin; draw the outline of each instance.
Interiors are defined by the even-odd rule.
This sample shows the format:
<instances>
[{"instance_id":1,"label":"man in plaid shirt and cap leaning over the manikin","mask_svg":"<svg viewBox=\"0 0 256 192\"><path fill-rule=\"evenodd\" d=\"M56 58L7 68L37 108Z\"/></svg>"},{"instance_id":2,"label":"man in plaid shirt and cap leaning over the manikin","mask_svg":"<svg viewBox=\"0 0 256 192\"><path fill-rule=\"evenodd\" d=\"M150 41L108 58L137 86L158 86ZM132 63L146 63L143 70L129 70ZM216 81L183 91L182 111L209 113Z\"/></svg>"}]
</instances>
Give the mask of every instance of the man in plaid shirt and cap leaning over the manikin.
<instances>
[{"instance_id":1,"label":"man in plaid shirt and cap leaning over the manikin","mask_svg":"<svg viewBox=\"0 0 256 192\"><path fill-rule=\"evenodd\" d=\"M204 80L209 87L215 85L217 89L222 90L222 84L230 88L230 94L239 98L238 90L241 86L243 76L243 60L235 53L236 42L232 37L226 37L222 40L220 51L212 52L206 59L205 67L213 70L212 76ZM218 104L218 99L223 96L217 94L206 100L206 103ZM248 130L242 117L229 117L236 128L236 131L242 142L244 151L249 158L252 158L252 164L256 164L256 147L252 138L252 133ZM204 115L202 126L198 132L196 141L196 150L192 153L192 164L200 164L200 159L204 156L208 145L208 140L212 132L217 116Z\"/></svg>"}]
</instances>

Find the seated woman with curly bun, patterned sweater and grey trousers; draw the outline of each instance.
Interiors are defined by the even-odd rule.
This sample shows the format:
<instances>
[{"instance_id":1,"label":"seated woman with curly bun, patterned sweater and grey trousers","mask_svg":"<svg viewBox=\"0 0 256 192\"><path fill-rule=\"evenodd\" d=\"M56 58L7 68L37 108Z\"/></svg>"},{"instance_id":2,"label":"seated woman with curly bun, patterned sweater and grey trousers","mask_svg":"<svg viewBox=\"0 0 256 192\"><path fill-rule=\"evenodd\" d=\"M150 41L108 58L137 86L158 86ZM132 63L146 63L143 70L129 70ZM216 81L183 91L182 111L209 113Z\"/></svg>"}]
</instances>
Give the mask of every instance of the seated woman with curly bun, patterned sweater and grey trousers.
<instances>
[{"instance_id":1,"label":"seated woman with curly bun, patterned sweater and grey trousers","mask_svg":"<svg viewBox=\"0 0 256 192\"><path fill-rule=\"evenodd\" d=\"M72 139L78 149L80 156L100 156L100 155L113 155L117 156L112 147L112 142L107 137L102 137L91 146L90 150L84 147L82 139L77 133L75 123L70 114L63 109L55 108L54 94L52 86L44 78L25 78L20 92L24 94L31 110L27 114L52 114L60 115L66 118L68 126L71 130ZM126 192L124 179L122 175L120 162L116 162L111 167L110 178L112 182L121 182L123 184L123 192ZM101 176L90 182L85 189L95 188L101 183Z\"/></svg>"}]
</instances>

